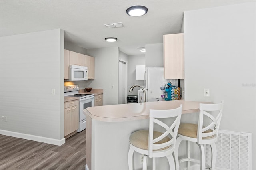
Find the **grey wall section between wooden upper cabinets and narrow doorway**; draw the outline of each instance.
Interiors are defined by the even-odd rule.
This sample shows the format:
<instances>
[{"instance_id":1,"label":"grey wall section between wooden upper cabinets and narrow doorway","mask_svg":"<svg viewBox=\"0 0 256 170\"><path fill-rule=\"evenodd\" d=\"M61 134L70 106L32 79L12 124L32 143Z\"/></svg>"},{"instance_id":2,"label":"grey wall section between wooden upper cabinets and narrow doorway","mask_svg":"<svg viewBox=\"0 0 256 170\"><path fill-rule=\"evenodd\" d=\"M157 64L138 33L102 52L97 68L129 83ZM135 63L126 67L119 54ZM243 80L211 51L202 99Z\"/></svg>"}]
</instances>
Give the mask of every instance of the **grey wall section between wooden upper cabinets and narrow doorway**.
<instances>
[{"instance_id":1,"label":"grey wall section between wooden upper cabinets and narrow doorway","mask_svg":"<svg viewBox=\"0 0 256 170\"><path fill-rule=\"evenodd\" d=\"M103 89L103 105L118 104L118 51L118 47L87 49L87 55L95 57L95 79L88 86Z\"/></svg>"}]
</instances>

